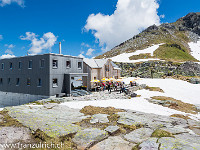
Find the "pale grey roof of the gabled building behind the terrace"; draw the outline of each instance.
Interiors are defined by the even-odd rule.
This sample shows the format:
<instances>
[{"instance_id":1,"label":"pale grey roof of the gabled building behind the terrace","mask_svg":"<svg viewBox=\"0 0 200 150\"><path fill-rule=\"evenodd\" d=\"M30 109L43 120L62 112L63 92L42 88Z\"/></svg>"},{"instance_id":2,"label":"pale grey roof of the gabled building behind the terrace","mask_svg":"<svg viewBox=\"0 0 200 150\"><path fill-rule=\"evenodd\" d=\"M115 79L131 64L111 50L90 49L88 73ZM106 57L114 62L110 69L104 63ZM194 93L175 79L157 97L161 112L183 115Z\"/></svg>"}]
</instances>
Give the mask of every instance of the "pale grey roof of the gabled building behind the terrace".
<instances>
[{"instance_id":1,"label":"pale grey roof of the gabled building behind the terrace","mask_svg":"<svg viewBox=\"0 0 200 150\"><path fill-rule=\"evenodd\" d=\"M83 61L90 67L90 68L102 68L108 59L88 59L84 58ZM116 64L111 61L112 66L114 69L120 69Z\"/></svg>"}]
</instances>

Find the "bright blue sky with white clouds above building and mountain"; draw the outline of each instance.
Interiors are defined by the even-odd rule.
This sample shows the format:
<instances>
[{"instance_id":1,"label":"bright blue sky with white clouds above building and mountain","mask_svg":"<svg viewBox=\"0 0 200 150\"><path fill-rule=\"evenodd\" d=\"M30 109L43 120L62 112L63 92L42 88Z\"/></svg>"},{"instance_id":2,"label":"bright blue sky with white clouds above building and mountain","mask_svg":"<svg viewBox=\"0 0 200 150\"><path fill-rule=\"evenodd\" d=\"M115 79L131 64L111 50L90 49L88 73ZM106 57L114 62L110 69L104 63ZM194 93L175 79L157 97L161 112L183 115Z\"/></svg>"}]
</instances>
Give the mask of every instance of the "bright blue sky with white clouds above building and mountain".
<instances>
[{"instance_id":1,"label":"bright blue sky with white clouds above building and mountain","mask_svg":"<svg viewBox=\"0 0 200 150\"><path fill-rule=\"evenodd\" d=\"M138 7L141 1L142 7L144 5L151 13ZM63 54L78 56L82 53L85 57L93 57L151 24L174 22L189 12L200 11L198 0L153 1L0 0L0 56L24 56L28 51L57 53L58 43L62 42ZM161 15L165 17L158 20ZM148 18L141 21L141 16Z\"/></svg>"}]
</instances>

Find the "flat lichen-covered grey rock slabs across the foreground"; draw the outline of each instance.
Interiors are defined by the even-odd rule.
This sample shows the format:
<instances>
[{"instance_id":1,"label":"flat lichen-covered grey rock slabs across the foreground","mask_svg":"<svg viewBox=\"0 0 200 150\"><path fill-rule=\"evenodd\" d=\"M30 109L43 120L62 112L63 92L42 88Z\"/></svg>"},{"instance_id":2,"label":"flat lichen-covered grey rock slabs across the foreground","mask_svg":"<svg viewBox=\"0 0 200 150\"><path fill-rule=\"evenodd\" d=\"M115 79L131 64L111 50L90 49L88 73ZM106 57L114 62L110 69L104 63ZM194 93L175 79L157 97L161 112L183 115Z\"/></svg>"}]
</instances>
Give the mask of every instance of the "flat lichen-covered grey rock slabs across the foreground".
<instances>
[{"instance_id":1,"label":"flat lichen-covered grey rock slabs across the foreground","mask_svg":"<svg viewBox=\"0 0 200 150\"><path fill-rule=\"evenodd\" d=\"M76 124L92 117L80 113L79 109L57 104L54 107L48 107L50 109L46 106L22 105L7 108L7 111L11 117L17 119L32 132L39 129L52 138L54 137L52 135L55 135L62 137L63 140L71 135L73 143L76 144L75 149L79 150L130 150L133 147L142 150L159 150L171 149L175 146L179 149L200 148L200 136L195 133L190 134L189 128L198 127L199 121L124 110L124 112L112 113L117 117L104 124L107 125L106 128L98 126L98 123L96 127L91 127L93 124L89 121L86 126ZM102 117L106 116L100 115L100 118L98 116L99 120ZM30 130L28 133L31 132ZM22 129L1 128L0 144L2 141L10 143L17 139L30 138L27 132L18 131ZM156 131L164 131L163 133L167 134Z\"/></svg>"}]
</instances>

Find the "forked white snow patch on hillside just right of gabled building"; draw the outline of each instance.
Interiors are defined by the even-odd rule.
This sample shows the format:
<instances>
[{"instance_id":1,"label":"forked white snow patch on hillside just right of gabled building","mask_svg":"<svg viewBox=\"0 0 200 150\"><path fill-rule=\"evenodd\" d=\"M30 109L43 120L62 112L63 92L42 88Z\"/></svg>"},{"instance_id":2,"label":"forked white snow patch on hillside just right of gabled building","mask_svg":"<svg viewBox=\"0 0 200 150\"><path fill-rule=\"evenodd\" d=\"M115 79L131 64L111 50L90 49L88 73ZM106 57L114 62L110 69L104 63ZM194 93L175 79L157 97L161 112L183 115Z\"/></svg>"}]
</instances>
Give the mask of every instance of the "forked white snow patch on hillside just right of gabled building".
<instances>
[{"instance_id":1,"label":"forked white snow patch on hillside just right of gabled building","mask_svg":"<svg viewBox=\"0 0 200 150\"><path fill-rule=\"evenodd\" d=\"M157 50L159 48L159 46L162 44L157 44L157 45L153 45L149 48L143 49L143 50L137 50L133 53L123 53L120 55L117 55L115 57L111 57L110 59L112 59L112 61L114 62L124 62L124 63L136 63L136 62L142 62L142 61L149 61L149 60L160 60L160 59L138 59L138 60L130 60L129 57L133 56L133 55L139 55L139 54L147 54L150 53L151 56L153 56L153 53L155 50Z\"/></svg>"}]
</instances>

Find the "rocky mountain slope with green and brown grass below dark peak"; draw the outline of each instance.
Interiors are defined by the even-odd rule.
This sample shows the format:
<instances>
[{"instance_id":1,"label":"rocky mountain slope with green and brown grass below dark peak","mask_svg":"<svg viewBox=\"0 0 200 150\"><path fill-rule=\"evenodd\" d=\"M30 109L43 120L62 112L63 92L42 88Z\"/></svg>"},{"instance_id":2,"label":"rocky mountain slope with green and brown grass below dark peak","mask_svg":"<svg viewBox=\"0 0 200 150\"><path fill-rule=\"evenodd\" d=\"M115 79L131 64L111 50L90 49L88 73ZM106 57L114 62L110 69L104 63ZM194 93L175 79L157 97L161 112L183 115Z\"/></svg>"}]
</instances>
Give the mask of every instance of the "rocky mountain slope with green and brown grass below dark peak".
<instances>
[{"instance_id":1,"label":"rocky mountain slope with green and brown grass below dark peak","mask_svg":"<svg viewBox=\"0 0 200 150\"><path fill-rule=\"evenodd\" d=\"M200 37L200 13L189 13L174 23L150 26L140 34L114 47L96 58L112 58L122 53L143 50L155 44L164 43L154 51L153 56L140 54L131 59L158 58L168 61L198 61L191 55L189 42L197 42Z\"/></svg>"}]
</instances>

